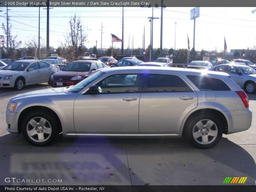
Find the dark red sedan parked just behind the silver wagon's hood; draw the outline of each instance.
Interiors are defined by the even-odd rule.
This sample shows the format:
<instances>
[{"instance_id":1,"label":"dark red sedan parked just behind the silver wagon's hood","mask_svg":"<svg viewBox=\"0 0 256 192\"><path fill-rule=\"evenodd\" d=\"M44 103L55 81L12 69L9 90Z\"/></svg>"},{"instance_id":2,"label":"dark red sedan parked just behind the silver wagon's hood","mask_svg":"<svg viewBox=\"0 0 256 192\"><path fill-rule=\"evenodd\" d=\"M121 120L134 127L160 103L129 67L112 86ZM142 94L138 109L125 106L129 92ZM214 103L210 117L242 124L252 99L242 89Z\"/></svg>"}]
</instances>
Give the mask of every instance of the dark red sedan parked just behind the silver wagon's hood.
<instances>
[{"instance_id":1,"label":"dark red sedan parked just behind the silver wagon's hood","mask_svg":"<svg viewBox=\"0 0 256 192\"><path fill-rule=\"evenodd\" d=\"M92 75L93 73L109 68L101 61L95 60L77 60L70 62L61 71L54 73L50 77L52 87L67 87L75 85Z\"/></svg>"}]
</instances>

